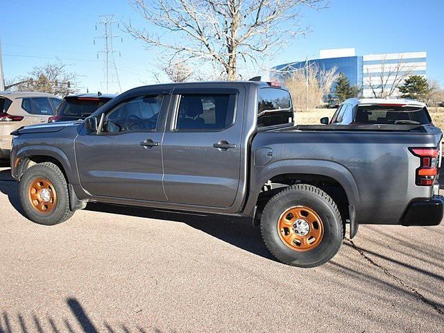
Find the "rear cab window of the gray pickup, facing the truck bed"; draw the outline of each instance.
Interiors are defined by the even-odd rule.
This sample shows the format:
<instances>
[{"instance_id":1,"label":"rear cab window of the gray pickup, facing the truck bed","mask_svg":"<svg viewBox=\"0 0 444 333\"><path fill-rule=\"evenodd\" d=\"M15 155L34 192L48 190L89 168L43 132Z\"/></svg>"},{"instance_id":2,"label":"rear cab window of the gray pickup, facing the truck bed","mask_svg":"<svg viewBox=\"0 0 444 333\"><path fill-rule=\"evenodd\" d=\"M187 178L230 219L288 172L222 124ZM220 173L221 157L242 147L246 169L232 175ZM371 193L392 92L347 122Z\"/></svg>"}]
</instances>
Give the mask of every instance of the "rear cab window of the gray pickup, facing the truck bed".
<instances>
[{"instance_id":1,"label":"rear cab window of the gray pickup, facing the truck bed","mask_svg":"<svg viewBox=\"0 0 444 333\"><path fill-rule=\"evenodd\" d=\"M277 126L294 122L290 94L278 88L259 89L257 126Z\"/></svg>"}]
</instances>

